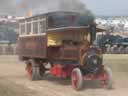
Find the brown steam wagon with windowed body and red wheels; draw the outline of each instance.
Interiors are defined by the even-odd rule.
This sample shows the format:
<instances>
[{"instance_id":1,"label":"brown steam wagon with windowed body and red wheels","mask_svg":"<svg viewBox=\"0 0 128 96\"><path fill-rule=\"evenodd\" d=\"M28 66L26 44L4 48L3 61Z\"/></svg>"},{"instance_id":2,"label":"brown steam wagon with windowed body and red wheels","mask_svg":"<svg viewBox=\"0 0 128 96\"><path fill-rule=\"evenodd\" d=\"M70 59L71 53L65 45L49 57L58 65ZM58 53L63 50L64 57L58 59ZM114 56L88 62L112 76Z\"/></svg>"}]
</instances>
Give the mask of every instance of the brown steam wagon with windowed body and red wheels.
<instances>
[{"instance_id":1,"label":"brown steam wagon with windowed body and red wheels","mask_svg":"<svg viewBox=\"0 0 128 96\"><path fill-rule=\"evenodd\" d=\"M101 31L89 14L58 11L25 18L19 21L18 55L31 80L49 71L70 77L75 90L84 80L100 80L111 88L111 70L103 65L102 50L95 45L96 32Z\"/></svg>"}]
</instances>

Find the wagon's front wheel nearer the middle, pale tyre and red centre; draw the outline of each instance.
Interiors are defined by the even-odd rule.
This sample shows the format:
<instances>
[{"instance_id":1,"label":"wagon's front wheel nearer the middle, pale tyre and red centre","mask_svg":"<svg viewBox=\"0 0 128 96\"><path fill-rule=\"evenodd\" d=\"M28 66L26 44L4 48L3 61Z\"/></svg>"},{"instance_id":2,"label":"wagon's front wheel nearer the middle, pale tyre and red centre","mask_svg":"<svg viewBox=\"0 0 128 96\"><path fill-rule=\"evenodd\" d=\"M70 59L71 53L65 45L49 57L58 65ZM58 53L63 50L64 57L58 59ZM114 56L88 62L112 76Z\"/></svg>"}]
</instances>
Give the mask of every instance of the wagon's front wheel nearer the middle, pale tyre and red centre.
<instances>
[{"instance_id":1,"label":"wagon's front wheel nearer the middle, pale tyre and red centre","mask_svg":"<svg viewBox=\"0 0 128 96\"><path fill-rule=\"evenodd\" d=\"M82 78L82 73L79 68L73 69L71 73L71 82L72 82L72 87L75 90L81 90L83 87L83 78Z\"/></svg>"}]
</instances>

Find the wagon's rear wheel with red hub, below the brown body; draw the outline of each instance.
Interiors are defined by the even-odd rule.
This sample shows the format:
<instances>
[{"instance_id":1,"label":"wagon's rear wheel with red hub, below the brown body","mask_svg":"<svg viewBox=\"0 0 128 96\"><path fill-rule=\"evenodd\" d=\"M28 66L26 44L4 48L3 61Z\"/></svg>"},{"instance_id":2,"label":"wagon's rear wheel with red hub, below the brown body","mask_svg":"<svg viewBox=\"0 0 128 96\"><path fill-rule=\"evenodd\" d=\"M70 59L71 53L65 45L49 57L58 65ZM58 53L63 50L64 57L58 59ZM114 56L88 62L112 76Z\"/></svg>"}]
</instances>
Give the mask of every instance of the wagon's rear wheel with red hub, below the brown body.
<instances>
[{"instance_id":1,"label":"wagon's rear wheel with red hub, below the brown body","mask_svg":"<svg viewBox=\"0 0 128 96\"><path fill-rule=\"evenodd\" d=\"M44 73L45 73L45 67L42 64L37 64L35 60L29 60L26 63L26 71L28 74L28 77L31 80L40 80L42 79Z\"/></svg>"}]
</instances>

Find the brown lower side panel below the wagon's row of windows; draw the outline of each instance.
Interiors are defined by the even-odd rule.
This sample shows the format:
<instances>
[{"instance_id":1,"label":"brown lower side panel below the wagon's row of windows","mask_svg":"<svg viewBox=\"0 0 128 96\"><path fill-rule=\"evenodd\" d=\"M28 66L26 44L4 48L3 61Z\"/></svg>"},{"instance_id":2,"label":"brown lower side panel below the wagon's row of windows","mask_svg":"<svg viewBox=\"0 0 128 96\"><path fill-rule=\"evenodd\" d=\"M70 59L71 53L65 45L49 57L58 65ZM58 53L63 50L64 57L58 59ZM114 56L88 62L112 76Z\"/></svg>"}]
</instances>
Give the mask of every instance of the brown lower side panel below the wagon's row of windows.
<instances>
[{"instance_id":1,"label":"brown lower side panel below the wagon's row of windows","mask_svg":"<svg viewBox=\"0 0 128 96\"><path fill-rule=\"evenodd\" d=\"M46 36L20 37L18 41L18 55L24 57L46 58L47 38Z\"/></svg>"}]
</instances>

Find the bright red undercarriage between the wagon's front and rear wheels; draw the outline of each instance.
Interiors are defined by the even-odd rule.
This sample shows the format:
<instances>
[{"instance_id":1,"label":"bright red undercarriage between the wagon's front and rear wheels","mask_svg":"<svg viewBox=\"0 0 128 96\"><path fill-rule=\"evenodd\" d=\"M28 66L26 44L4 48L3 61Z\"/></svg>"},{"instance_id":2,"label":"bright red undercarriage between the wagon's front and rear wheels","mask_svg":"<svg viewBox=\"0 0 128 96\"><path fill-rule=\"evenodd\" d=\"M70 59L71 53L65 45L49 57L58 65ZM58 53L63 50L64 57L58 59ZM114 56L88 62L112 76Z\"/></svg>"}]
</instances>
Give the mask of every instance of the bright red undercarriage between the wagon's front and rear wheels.
<instances>
[{"instance_id":1,"label":"bright red undercarriage between the wagon's front and rear wheels","mask_svg":"<svg viewBox=\"0 0 128 96\"><path fill-rule=\"evenodd\" d=\"M73 64L65 65L65 64L54 64L54 66L50 69L52 75L56 77L69 77L71 76L72 69L74 68Z\"/></svg>"}]
</instances>

